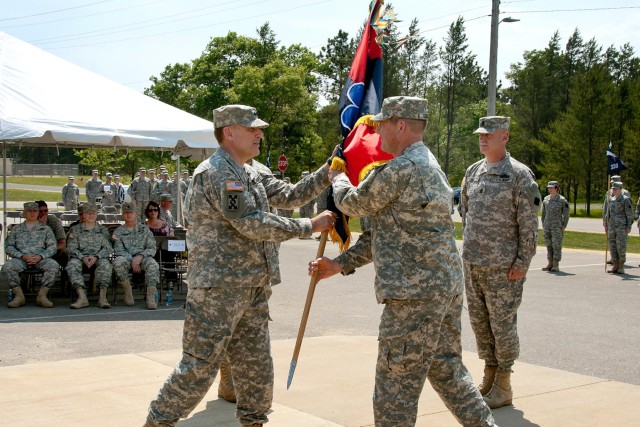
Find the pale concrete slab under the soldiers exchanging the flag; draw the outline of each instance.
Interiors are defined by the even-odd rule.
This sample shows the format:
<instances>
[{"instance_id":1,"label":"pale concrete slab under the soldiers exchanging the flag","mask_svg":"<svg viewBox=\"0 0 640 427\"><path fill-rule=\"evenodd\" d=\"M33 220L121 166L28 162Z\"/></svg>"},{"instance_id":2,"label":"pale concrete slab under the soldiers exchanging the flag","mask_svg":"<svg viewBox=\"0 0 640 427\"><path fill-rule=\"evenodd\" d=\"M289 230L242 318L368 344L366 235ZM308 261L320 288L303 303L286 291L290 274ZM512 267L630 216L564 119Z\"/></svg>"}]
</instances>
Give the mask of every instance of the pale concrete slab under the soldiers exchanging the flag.
<instances>
[{"instance_id":1,"label":"pale concrete slab under the soldiers exchanging the flag","mask_svg":"<svg viewBox=\"0 0 640 427\"><path fill-rule=\"evenodd\" d=\"M273 426L371 426L375 337L331 336L303 342L286 390L294 340L273 342ZM139 426L149 401L179 360L180 350L110 355L0 368L2 425ZM464 361L476 382L482 364ZM640 386L527 363L514 366L513 406L494 411L501 426L634 426ZM235 405L218 399L217 381L183 427L236 426ZM458 423L427 384L418 426Z\"/></svg>"}]
</instances>

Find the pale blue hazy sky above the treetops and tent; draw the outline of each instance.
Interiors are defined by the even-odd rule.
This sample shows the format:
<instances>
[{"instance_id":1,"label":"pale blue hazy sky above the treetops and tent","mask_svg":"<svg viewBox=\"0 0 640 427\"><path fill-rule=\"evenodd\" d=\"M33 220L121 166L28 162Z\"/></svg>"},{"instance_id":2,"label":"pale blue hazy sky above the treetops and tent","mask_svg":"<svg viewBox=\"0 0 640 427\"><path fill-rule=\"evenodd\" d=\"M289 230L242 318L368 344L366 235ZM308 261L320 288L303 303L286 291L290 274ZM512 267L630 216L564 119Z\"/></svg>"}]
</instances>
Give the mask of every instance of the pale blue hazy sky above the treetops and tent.
<instances>
[{"instance_id":1,"label":"pale blue hazy sky above the treetops and tent","mask_svg":"<svg viewBox=\"0 0 640 427\"><path fill-rule=\"evenodd\" d=\"M438 46L462 16L469 50L488 69L491 0L386 4L402 21L402 34L417 18L421 35ZM212 37L255 37L268 21L282 45L319 52L338 30L355 35L368 7L368 0L0 0L0 31L142 92L167 65L198 58ZM605 48L630 43L640 55L640 0L504 0L500 11L501 19L520 19L499 26L504 85L510 65L525 51L544 49L555 31L563 46L578 28L585 41L595 38Z\"/></svg>"}]
</instances>

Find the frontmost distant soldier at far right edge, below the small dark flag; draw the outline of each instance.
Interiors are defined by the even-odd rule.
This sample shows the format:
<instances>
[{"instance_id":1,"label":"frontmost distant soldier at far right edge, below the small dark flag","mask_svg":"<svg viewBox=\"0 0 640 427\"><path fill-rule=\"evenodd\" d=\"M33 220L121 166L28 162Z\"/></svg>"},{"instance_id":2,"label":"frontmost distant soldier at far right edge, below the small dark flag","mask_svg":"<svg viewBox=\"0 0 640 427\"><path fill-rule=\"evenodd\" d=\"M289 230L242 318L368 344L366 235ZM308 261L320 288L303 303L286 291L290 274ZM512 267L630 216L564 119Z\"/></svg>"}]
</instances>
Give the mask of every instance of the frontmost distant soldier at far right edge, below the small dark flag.
<instances>
[{"instance_id":1,"label":"frontmost distant soldier at far right edge, below the small dark flag","mask_svg":"<svg viewBox=\"0 0 640 427\"><path fill-rule=\"evenodd\" d=\"M621 182L611 184L613 194L605 213L605 230L613 264L607 273L624 274L624 263L627 261L627 235L633 225L633 206L631 199L622 190Z\"/></svg>"}]
</instances>

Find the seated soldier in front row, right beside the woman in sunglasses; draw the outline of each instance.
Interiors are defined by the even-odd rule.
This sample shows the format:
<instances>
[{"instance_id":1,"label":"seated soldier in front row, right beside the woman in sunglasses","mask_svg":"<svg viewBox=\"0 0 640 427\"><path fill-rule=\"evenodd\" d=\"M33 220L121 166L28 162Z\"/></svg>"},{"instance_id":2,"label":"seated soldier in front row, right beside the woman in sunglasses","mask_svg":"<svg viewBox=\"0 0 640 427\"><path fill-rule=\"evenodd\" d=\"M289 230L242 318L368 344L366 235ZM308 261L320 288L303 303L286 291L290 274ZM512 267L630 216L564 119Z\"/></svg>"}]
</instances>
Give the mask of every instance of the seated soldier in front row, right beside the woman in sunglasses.
<instances>
[{"instance_id":1,"label":"seated soldier in front row, right beside the woman in sunglasses","mask_svg":"<svg viewBox=\"0 0 640 427\"><path fill-rule=\"evenodd\" d=\"M151 230L144 224L137 223L138 209L134 203L126 202L122 205L122 217L124 225L113 232L113 248L115 259L113 269L116 272L118 283L124 290L124 303L133 305L133 293L129 281L129 271L140 273L144 271L144 280L147 285L147 308L157 308L155 292L160 281L160 268L153 259L156 254L156 239Z\"/></svg>"}]
</instances>

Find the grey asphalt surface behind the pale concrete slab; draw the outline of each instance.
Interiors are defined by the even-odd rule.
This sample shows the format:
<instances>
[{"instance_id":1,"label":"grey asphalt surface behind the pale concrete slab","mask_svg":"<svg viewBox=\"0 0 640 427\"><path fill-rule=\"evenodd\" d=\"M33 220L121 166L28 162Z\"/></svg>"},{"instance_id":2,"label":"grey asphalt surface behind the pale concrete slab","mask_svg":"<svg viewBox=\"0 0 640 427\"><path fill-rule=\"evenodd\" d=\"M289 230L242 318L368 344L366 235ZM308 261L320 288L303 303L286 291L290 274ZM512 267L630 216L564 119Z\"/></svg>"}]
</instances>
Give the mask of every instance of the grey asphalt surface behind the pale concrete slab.
<instances>
[{"instance_id":1,"label":"grey asphalt surface behind the pale concrete slab","mask_svg":"<svg viewBox=\"0 0 640 427\"><path fill-rule=\"evenodd\" d=\"M295 338L307 287L307 261L318 242L292 240L281 249L283 283L270 301L271 336ZM335 256L335 245L327 246ZM523 362L640 385L640 256L629 257L628 274L604 272L600 252L565 250L562 272L546 273L543 248L533 260L519 311ZM376 336L382 307L373 294L373 268L320 282L306 336ZM184 299L184 295L176 295ZM69 300L42 309L0 307L0 366L179 348L183 313L117 306L70 310ZM475 352L463 311L462 341ZM302 345L300 360L304 359ZM515 365L517 370L517 364Z\"/></svg>"}]
</instances>

